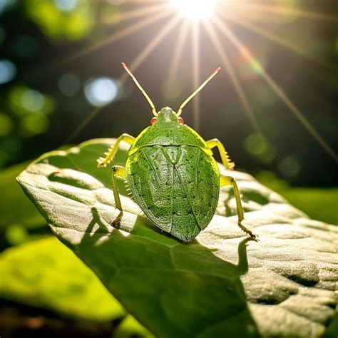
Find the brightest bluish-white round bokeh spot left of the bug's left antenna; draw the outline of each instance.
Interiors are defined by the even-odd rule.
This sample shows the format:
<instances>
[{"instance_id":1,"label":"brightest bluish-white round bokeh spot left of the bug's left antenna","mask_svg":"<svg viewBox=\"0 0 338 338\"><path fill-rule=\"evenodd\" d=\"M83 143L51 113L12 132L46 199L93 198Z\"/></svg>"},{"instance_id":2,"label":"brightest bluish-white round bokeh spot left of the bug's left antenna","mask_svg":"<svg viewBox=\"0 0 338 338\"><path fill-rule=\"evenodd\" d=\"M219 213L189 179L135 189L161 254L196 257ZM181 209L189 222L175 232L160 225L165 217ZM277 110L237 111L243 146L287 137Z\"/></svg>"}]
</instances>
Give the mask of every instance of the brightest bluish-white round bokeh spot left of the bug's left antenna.
<instances>
[{"instance_id":1,"label":"brightest bluish-white round bokeh spot left of the bug's left antenna","mask_svg":"<svg viewBox=\"0 0 338 338\"><path fill-rule=\"evenodd\" d=\"M90 80L85 86L85 95L93 106L106 106L118 96L118 83L106 77Z\"/></svg>"}]
</instances>

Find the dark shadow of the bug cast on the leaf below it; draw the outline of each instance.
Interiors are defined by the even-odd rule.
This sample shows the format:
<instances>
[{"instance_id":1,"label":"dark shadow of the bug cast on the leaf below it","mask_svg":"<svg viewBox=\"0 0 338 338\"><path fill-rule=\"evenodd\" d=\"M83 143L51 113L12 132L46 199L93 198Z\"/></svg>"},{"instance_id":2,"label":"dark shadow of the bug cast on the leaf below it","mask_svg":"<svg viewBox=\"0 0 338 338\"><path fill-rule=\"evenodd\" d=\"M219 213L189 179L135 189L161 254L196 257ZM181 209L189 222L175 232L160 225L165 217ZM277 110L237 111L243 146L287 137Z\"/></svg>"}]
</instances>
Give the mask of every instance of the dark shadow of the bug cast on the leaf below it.
<instances>
[{"instance_id":1,"label":"dark shadow of the bug cast on the leaf below it","mask_svg":"<svg viewBox=\"0 0 338 338\"><path fill-rule=\"evenodd\" d=\"M247 307L240 276L248 270L246 238L237 247L237 264L227 262L198 240L183 244L163 236L146 217L135 217L129 233L106 227L100 210L91 209L88 223L76 253L127 310L150 331L158 332L148 315L174 321L176 337L205 332L227 332L227 337L259 337ZM198 297L196 297L198 295ZM142 304L142 306L141 306ZM141 306L141 307L140 307ZM214 318L205 312L214 309ZM237 323L237 324L236 324ZM239 324L240 323L240 324ZM172 332L173 332L172 331Z\"/></svg>"}]
</instances>

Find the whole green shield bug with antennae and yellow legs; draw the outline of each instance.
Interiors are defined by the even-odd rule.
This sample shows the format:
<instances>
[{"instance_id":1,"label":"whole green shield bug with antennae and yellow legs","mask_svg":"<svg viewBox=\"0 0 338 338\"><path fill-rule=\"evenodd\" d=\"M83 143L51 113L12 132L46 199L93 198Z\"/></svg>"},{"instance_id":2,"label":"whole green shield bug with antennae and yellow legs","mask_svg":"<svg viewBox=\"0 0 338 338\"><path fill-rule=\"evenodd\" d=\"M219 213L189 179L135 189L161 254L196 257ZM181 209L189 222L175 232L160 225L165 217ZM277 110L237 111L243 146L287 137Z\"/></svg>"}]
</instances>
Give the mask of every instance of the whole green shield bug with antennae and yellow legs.
<instances>
[{"instance_id":1,"label":"whole green shield bug with antennae and yellow legs","mask_svg":"<svg viewBox=\"0 0 338 338\"><path fill-rule=\"evenodd\" d=\"M127 180L133 199L146 216L160 229L170 232L180 240L189 242L208 226L217 208L220 187L232 185L237 206L238 226L256 238L242 225L244 219L240 192L235 179L220 175L213 158L212 148L217 147L225 168L231 170L230 161L220 140L205 141L180 117L183 107L220 71L217 68L202 85L180 106L177 113L165 107L156 111L153 102L133 73L122 63L136 86L143 93L152 108L154 117L148 128L137 138L122 134L106 157L98 158L98 168L111 163L118 145L123 141L130 145L126 168L113 165L111 183L120 210L113 225L121 222L123 209L116 185L116 176Z\"/></svg>"}]
</instances>

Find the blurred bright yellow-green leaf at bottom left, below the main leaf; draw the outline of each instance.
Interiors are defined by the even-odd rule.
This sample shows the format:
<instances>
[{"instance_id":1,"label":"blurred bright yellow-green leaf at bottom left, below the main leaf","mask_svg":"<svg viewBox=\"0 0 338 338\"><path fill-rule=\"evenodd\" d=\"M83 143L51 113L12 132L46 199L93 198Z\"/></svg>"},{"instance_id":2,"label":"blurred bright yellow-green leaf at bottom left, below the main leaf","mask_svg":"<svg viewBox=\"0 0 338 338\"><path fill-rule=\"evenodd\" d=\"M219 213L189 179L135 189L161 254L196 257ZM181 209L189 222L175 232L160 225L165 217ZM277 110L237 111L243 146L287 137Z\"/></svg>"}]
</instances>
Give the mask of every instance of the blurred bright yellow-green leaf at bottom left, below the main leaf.
<instances>
[{"instance_id":1,"label":"blurred bright yellow-green leaf at bottom left, below the main leaf","mask_svg":"<svg viewBox=\"0 0 338 338\"><path fill-rule=\"evenodd\" d=\"M9 248L0 255L0 297L66 317L105 322L121 318L121 304L56 237Z\"/></svg>"}]
</instances>

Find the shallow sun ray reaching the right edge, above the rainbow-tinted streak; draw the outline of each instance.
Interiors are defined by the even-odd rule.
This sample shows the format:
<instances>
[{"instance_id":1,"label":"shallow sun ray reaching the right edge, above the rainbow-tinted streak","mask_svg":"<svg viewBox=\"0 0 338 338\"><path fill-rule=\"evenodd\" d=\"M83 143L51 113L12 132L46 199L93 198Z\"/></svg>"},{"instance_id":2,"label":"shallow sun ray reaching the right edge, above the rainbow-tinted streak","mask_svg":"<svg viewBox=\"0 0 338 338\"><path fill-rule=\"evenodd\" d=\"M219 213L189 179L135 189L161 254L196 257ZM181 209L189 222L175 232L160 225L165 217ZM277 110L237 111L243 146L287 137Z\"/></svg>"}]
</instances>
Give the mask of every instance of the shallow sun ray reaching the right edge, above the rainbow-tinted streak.
<instances>
[{"instance_id":1,"label":"shallow sun ray reaching the right edge, above the rainbow-tinted streak","mask_svg":"<svg viewBox=\"0 0 338 338\"><path fill-rule=\"evenodd\" d=\"M297 46L293 46L292 43L289 43L288 41L280 38L279 36L276 36L275 34L270 33L269 31L267 31L265 29L261 29L260 27L255 26L255 24L250 24L250 22L247 22L243 19L240 19L239 17L236 18L233 15L229 15L229 14L225 14L225 13L221 13L220 16L224 17L227 20L235 22L235 24L238 24L242 27L245 27L246 29L249 29L250 31L254 31L256 34L259 34L260 36L264 37L265 39L268 39L268 40L270 40L274 43L277 43L280 46L283 46L283 47L289 49L290 51L293 51L293 52L297 53L298 55L309 59L310 61L313 61L315 63L320 64L321 66L325 66L327 68L332 68L332 69L337 68L336 66L334 66L330 63L324 62L324 61L320 60L319 58L316 58L314 56L309 55L302 48L298 48Z\"/></svg>"}]
</instances>

